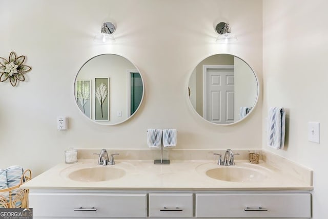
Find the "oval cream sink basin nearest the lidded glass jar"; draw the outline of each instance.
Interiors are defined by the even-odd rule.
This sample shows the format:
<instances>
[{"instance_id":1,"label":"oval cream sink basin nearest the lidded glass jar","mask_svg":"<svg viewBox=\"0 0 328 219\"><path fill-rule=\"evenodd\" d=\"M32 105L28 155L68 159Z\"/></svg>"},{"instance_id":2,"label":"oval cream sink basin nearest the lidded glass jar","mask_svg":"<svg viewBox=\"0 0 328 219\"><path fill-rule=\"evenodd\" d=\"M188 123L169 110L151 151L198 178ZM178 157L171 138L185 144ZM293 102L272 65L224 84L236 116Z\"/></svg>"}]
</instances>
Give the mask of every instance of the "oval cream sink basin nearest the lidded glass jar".
<instances>
[{"instance_id":1,"label":"oval cream sink basin nearest the lidded glass jar","mask_svg":"<svg viewBox=\"0 0 328 219\"><path fill-rule=\"evenodd\" d=\"M68 178L80 182L101 182L116 180L125 176L126 171L113 166L99 166L75 170Z\"/></svg>"}]
</instances>

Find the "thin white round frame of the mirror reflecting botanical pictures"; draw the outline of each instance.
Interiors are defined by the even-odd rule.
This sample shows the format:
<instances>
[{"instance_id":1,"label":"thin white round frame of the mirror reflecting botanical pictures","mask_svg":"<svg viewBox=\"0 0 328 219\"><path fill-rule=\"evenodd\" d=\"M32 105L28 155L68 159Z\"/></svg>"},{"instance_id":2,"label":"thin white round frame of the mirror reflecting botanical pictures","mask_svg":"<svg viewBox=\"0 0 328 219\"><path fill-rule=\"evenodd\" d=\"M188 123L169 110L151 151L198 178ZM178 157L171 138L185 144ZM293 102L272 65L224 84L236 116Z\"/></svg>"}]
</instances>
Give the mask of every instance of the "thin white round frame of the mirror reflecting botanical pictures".
<instances>
[{"instance_id":1,"label":"thin white round frame of the mirror reflecting botanical pictures","mask_svg":"<svg viewBox=\"0 0 328 219\"><path fill-rule=\"evenodd\" d=\"M91 59L93 58L96 58L98 56L101 56L101 55L115 55L115 56L119 56L119 57L122 57L122 58L125 58L127 61L129 61L134 67L135 69L139 72L139 75L141 77L141 81L142 81L142 96L141 96L141 99L140 99L140 103L139 103L139 106L137 107L137 109L133 112L133 114L131 114L128 118L126 118L125 120L122 120L120 122L117 122L117 123L113 123L113 124L109 124L109 123L100 123L99 121L97 120L93 120L92 118L88 117L83 111L81 111L81 109L79 108L78 104L77 104L77 99L76 99L76 81L77 81L77 76L79 74L79 72L81 71L81 69L89 62L91 61ZM136 65L134 63L132 63L128 58L124 57L124 56L121 56L121 55L118 55L118 54L113 54L113 53L103 53L103 54L99 54L99 55L95 55L91 58L89 58L80 68L79 70L77 71L75 77L74 77L74 82L73 82L73 98L74 98L74 102L75 102L75 106L77 107L78 111L84 116L86 117L89 121L92 121L93 123L96 123L98 125L103 125L103 126L115 126L115 125L119 125L119 124L122 124L122 123L125 123L127 122L128 120L130 120L131 117L133 117L137 111L140 109L140 106L142 104L142 102L144 101L144 97L145 97L145 81L144 81L144 78L142 77L141 73L140 73L140 70L136 67Z\"/></svg>"}]
</instances>

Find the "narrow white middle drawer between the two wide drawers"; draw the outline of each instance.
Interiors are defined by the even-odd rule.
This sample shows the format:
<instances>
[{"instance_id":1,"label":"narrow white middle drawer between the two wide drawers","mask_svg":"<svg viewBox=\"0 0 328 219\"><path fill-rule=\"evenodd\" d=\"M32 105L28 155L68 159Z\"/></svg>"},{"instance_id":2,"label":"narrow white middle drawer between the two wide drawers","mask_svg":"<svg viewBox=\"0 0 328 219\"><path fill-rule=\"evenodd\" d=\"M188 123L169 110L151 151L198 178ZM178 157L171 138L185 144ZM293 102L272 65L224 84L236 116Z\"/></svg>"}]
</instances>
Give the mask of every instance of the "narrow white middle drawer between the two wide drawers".
<instances>
[{"instance_id":1,"label":"narrow white middle drawer between the two wide drawers","mask_svg":"<svg viewBox=\"0 0 328 219\"><path fill-rule=\"evenodd\" d=\"M149 217L192 217L192 193L150 193Z\"/></svg>"}]
</instances>

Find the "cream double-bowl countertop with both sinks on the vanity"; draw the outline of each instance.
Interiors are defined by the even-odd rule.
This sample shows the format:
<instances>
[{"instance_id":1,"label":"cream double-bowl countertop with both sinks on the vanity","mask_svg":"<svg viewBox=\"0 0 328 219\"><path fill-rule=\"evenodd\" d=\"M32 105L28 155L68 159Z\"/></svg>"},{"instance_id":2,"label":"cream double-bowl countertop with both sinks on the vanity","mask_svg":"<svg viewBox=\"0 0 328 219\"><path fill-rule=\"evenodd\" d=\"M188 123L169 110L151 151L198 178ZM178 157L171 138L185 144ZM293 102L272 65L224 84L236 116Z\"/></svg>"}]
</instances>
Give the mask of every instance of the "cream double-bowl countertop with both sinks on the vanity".
<instances>
[{"instance_id":1,"label":"cream double-bowl countertop with both sinks on the vanity","mask_svg":"<svg viewBox=\"0 0 328 219\"><path fill-rule=\"evenodd\" d=\"M260 161L235 161L219 166L215 161L117 160L97 165L96 160L58 164L22 185L29 189L98 190L313 190L312 184Z\"/></svg>"}]
</instances>

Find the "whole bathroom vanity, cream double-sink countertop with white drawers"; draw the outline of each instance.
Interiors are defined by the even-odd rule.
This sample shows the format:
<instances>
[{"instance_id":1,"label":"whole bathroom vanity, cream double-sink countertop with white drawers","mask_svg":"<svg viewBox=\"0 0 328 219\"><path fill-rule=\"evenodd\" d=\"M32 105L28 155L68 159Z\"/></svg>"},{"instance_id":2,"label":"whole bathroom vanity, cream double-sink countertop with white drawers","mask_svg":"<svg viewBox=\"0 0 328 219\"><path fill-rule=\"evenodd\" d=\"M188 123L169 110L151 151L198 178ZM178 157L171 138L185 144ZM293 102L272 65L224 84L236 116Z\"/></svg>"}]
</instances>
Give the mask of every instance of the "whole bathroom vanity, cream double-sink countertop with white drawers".
<instances>
[{"instance_id":1,"label":"whole bathroom vanity, cream double-sink countertop with white drawers","mask_svg":"<svg viewBox=\"0 0 328 219\"><path fill-rule=\"evenodd\" d=\"M311 218L312 171L270 162L237 160L226 167L117 160L99 166L79 160L58 164L24 187L33 218ZM221 169L225 178L215 178L211 172Z\"/></svg>"}]
</instances>

